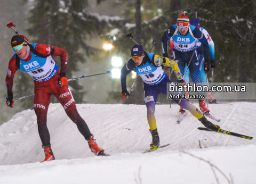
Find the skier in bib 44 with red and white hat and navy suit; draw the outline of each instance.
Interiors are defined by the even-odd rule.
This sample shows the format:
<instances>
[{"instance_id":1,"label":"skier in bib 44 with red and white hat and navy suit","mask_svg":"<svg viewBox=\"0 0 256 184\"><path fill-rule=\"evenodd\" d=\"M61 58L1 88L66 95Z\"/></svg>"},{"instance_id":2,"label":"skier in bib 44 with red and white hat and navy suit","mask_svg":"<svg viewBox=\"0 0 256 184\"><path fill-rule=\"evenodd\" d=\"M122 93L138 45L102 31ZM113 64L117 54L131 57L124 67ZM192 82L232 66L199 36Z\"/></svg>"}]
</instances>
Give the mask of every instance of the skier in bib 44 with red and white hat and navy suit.
<instances>
[{"instance_id":1,"label":"skier in bib 44 with red and white hat and navy suit","mask_svg":"<svg viewBox=\"0 0 256 184\"><path fill-rule=\"evenodd\" d=\"M178 60L179 69L181 75L184 75L185 65L189 64L190 58L193 56L195 50L195 40L198 39L204 46L204 70L208 72L210 70L209 63L209 44L203 33L195 26L189 25L189 19L182 14L177 19L177 24L174 24L168 28L162 37L163 56L168 57L167 54L167 41L172 37L173 39L173 58ZM193 56L191 63L188 67L190 70L191 78L196 86L201 85L199 79L199 62L197 52ZM203 95L203 91L197 92L198 95ZM210 110L205 105L205 99L199 99L199 107L203 113L209 113ZM183 109L180 108L180 111Z\"/></svg>"}]
</instances>

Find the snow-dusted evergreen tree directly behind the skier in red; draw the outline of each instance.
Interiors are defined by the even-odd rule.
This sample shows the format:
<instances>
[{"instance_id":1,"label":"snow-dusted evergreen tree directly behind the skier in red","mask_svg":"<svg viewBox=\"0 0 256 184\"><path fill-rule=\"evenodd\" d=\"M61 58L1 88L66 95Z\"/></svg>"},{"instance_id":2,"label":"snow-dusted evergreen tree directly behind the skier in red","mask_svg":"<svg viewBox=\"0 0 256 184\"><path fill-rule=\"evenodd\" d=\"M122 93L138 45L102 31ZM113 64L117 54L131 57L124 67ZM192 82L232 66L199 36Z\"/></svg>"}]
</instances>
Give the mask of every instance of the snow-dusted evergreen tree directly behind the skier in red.
<instances>
[{"instance_id":1,"label":"snow-dusted evergreen tree directly behind the skier in red","mask_svg":"<svg viewBox=\"0 0 256 184\"><path fill-rule=\"evenodd\" d=\"M86 44L86 40L97 37L105 32L110 23L117 23L116 19L101 19L98 14L86 10L87 0L35 0L28 29L28 38L32 38L30 43L41 43L57 46L66 49L69 54L67 78L79 70L78 63L85 63L86 56L96 55L101 49L93 48ZM58 57L54 57L60 66ZM20 96L27 95L28 91L33 91L34 82L25 73L21 78L26 80L26 87L22 82L17 84L21 91ZM29 79L30 78L30 79ZM23 81L25 81L23 80ZM83 87L74 81L69 84L77 103L82 103ZM28 90L24 90L24 88ZM82 92L81 92L82 91ZM55 98L52 102L57 102ZM31 103L25 103L25 108L31 108Z\"/></svg>"}]
</instances>

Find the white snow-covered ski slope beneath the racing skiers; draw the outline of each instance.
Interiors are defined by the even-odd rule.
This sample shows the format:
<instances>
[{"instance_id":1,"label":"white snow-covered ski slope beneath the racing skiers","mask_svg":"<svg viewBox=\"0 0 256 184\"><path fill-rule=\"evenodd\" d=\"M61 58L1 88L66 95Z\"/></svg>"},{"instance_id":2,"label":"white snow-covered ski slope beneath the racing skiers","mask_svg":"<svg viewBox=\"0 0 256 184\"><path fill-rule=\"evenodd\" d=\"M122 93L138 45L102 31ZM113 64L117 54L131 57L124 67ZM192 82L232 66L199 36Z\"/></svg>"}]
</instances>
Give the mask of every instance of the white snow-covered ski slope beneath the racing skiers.
<instances>
[{"instance_id":1,"label":"white snow-covered ski slope beneath the racing skiers","mask_svg":"<svg viewBox=\"0 0 256 184\"><path fill-rule=\"evenodd\" d=\"M36 115L22 111L0 126L0 183L217 183L209 163L182 150L210 161L234 184L256 183L256 138L198 130L203 125L190 113L177 124L178 105L156 106L161 145L170 146L147 154L141 154L151 143L145 105L78 104L77 108L99 146L111 156L95 156L62 106L50 104L47 126L56 160L39 163L44 151ZM210 105L212 115L221 119L210 121L255 137L255 109L255 103ZM219 183L228 183L214 171Z\"/></svg>"}]
</instances>

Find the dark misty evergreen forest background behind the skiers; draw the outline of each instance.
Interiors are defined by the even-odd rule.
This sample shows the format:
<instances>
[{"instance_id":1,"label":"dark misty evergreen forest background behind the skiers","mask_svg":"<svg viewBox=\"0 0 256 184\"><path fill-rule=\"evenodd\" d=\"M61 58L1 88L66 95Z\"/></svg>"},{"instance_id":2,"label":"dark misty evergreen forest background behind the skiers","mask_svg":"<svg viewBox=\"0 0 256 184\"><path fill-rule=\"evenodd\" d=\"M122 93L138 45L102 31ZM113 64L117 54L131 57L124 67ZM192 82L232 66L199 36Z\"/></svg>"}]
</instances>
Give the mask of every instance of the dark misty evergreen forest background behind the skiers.
<instances>
[{"instance_id":1,"label":"dark misty evergreen forest background behind the skiers","mask_svg":"<svg viewBox=\"0 0 256 184\"><path fill-rule=\"evenodd\" d=\"M69 53L67 77L74 78L79 77L79 74L82 76L111 70L112 56L122 57L123 64L127 62L134 45L125 37L130 33L146 51L150 50L153 40L156 41L152 52L162 55L161 39L164 31L175 24L182 10L188 12L189 18L193 18L194 10L197 9L201 26L209 32L215 45L217 68L214 69L213 81L256 81L255 0L1 1L0 8L0 124L17 112L33 109L33 97L15 102L13 109L5 105L5 76L8 61L13 55L10 40L14 32L6 27L10 22L17 25L15 29L27 36L30 43L66 49ZM115 34L113 30L116 30ZM104 42L113 44L114 48L105 51L102 45ZM59 58L54 60L59 62ZM130 87L133 80L127 77L127 86ZM72 82L70 88L77 104L144 104L143 82L140 78L133 87L131 97L125 102L121 96L120 80L109 76ZM34 82L28 74L20 71L16 73L13 93L14 98L34 93ZM158 101L168 103L162 96L158 97ZM57 103L57 100L52 98L52 103Z\"/></svg>"}]
</instances>

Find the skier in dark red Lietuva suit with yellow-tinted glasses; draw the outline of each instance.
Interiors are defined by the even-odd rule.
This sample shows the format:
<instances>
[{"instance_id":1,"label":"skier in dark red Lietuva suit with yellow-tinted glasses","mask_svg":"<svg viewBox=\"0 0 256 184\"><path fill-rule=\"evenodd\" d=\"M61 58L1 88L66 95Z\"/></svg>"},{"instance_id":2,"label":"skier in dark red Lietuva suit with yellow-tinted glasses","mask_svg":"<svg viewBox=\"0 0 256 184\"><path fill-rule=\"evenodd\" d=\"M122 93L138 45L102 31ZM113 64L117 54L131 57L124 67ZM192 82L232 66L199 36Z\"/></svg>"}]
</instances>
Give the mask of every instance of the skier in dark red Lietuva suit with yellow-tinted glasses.
<instances>
[{"instance_id":1,"label":"skier in dark red Lietuva suit with yellow-tinted glasses","mask_svg":"<svg viewBox=\"0 0 256 184\"><path fill-rule=\"evenodd\" d=\"M12 87L15 72L18 69L27 72L35 83L34 110L37 116L39 137L45 153L44 161L55 159L50 144L50 133L46 125L47 110L52 95L61 103L69 118L76 123L78 130L88 141L92 152L96 155L104 154L104 150L95 143L87 124L77 112L74 98L68 87L66 78L68 52L65 49L45 44L30 45L21 35L13 36L11 45L15 54L9 62L5 81L8 95L6 104L11 108L14 104ZM60 56L60 69L52 56Z\"/></svg>"}]
</instances>

